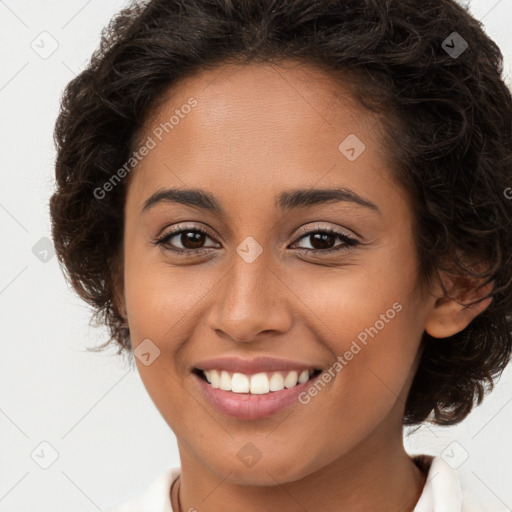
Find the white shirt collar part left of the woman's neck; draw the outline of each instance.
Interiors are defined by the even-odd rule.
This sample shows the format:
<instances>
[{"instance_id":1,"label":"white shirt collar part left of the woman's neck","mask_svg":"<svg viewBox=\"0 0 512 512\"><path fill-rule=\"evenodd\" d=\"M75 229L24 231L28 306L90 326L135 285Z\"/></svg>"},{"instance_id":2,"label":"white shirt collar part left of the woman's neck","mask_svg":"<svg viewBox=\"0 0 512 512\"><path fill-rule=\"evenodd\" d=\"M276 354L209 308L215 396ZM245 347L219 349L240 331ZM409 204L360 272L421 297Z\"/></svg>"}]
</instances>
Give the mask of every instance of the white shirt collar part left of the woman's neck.
<instances>
[{"instance_id":1,"label":"white shirt collar part left of the woman's neck","mask_svg":"<svg viewBox=\"0 0 512 512\"><path fill-rule=\"evenodd\" d=\"M105 512L172 512L170 489L180 472L179 467L166 469L143 492L118 503Z\"/></svg>"}]
</instances>

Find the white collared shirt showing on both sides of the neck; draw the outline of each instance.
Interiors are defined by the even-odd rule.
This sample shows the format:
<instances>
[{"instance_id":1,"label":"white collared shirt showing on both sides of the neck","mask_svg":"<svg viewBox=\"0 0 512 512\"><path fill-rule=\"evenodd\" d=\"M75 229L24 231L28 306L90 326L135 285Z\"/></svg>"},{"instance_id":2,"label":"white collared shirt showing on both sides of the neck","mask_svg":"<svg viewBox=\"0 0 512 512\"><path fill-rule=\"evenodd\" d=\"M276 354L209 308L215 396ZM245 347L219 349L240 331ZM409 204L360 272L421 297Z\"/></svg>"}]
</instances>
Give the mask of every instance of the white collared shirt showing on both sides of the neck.
<instances>
[{"instance_id":1,"label":"white collared shirt showing on both sides of the neck","mask_svg":"<svg viewBox=\"0 0 512 512\"><path fill-rule=\"evenodd\" d=\"M441 457L412 455L413 460L427 468L423 492L413 512L487 512L482 502L472 494L460 475ZM430 466L430 467L429 467ZM141 494L119 503L106 512L173 512L170 489L180 468L166 469Z\"/></svg>"}]
</instances>

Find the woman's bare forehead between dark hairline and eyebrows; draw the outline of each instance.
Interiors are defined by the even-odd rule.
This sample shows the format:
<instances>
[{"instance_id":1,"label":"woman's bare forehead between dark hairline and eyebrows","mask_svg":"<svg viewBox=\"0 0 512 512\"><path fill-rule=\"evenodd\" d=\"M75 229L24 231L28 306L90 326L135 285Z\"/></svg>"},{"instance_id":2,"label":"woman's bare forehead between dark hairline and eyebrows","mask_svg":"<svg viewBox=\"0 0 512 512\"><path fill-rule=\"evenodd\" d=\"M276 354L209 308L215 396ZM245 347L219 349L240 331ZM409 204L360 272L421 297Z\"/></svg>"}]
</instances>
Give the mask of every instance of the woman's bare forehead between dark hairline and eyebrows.
<instances>
[{"instance_id":1,"label":"woman's bare forehead between dark hairline and eyebrows","mask_svg":"<svg viewBox=\"0 0 512 512\"><path fill-rule=\"evenodd\" d=\"M158 188L200 187L234 208L267 197L273 206L276 189L291 186L377 190L389 181L378 132L375 115L315 67L223 65L162 97L141 136L154 147L133 173L129 197L142 207ZM357 159L343 153L347 146Z\"/></svg>"}]
</instances>

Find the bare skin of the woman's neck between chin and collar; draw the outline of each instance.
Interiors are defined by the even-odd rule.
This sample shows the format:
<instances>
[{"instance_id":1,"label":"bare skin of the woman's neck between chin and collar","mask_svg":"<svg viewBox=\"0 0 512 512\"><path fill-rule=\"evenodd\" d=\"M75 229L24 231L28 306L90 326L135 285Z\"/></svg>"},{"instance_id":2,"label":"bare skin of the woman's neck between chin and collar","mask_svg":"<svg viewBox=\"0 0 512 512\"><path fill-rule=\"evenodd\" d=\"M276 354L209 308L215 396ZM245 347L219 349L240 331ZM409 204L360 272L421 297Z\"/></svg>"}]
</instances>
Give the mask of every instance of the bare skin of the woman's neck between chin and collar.
<instances>
[{"instance_id":1,"label":"bare skin of the woman's neck between chin and collar","mask_svg":"<svg viewBox=\"0 0 512 512\"><path fill-rule=\"evenodd\" d=\"M396 425L392 430L396 432ZM390 434L389 425L380 425L354 450L319 471L271 487L221 481L179 446L181 478L173 489L173 510L412 512L426 475L405 452L401 429L400 435Z\"/></svg>"}]
</instances>

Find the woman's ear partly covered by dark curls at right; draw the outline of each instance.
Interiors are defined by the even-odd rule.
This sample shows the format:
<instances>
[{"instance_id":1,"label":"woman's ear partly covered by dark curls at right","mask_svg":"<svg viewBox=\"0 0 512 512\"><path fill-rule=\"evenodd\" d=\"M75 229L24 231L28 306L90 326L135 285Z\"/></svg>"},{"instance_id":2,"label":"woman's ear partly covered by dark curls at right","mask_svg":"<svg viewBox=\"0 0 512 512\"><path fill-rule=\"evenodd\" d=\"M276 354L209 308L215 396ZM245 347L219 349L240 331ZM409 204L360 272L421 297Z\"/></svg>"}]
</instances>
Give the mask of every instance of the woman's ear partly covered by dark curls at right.
<instances>
[{"instance_id":1,"label":"woman's ear partly covered by dark curls at right","mask_svg":"<svg viewBox=\"0 0 512 512\"><path fill-rule=\"evenodd\" d=\"M492 302L492 297L483 299L494 286L494 282L482 285L484 280L467 276L440 276L447 294L438 286L437 300L429 311L425 331L433 338L448 338L464 330L471 321Z\"/></svg>"}]
</instances>

